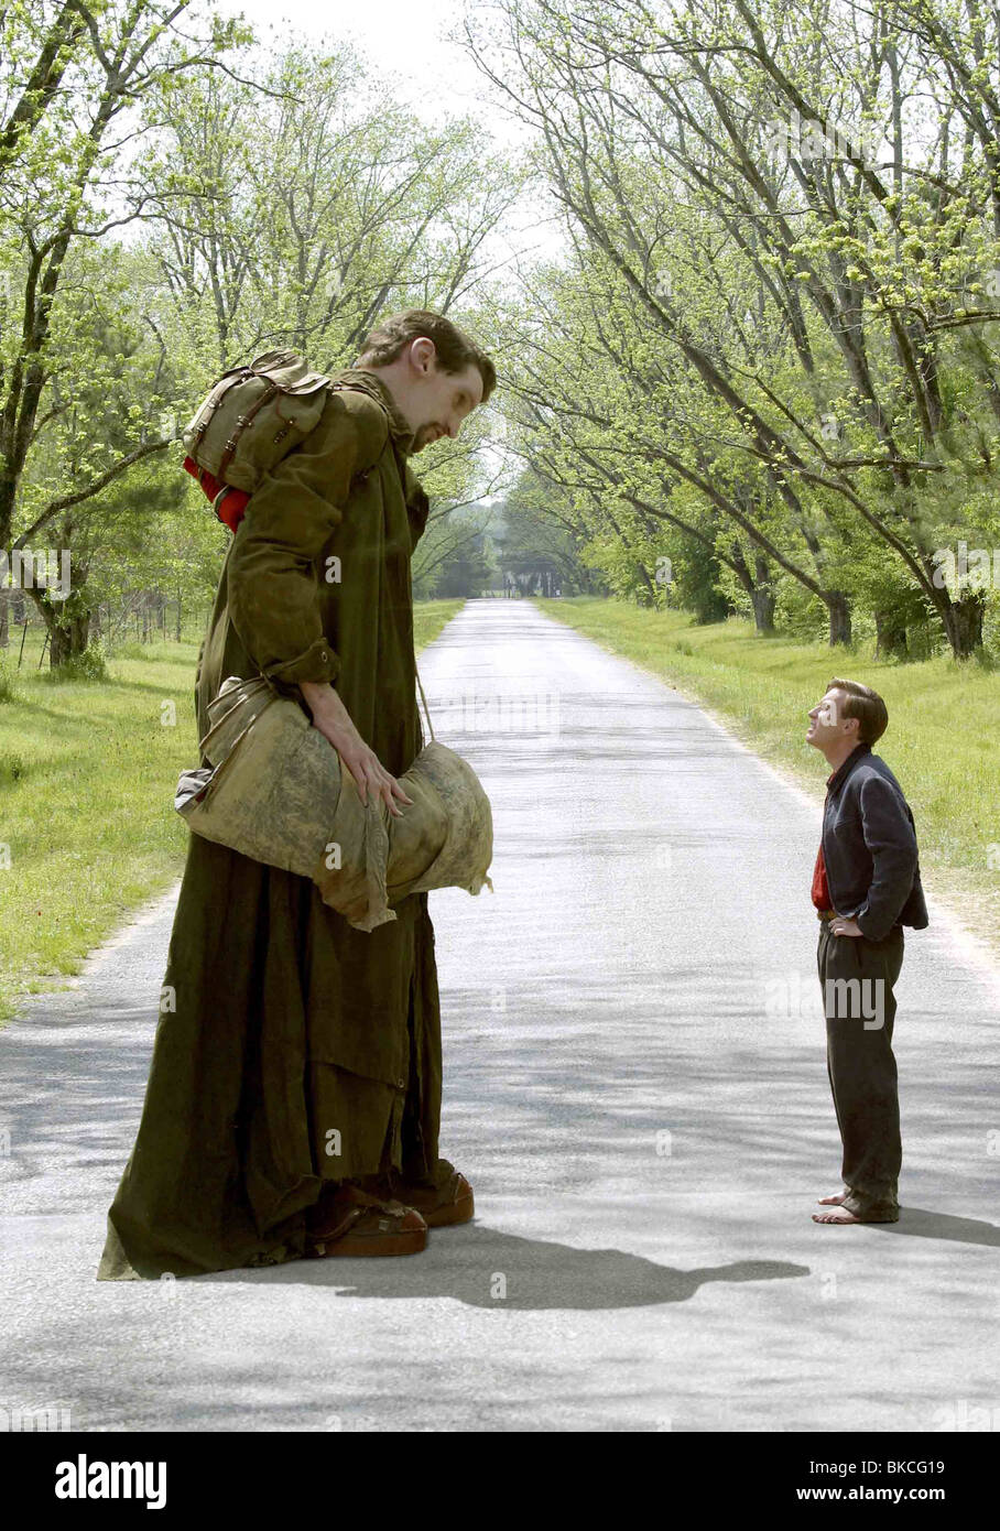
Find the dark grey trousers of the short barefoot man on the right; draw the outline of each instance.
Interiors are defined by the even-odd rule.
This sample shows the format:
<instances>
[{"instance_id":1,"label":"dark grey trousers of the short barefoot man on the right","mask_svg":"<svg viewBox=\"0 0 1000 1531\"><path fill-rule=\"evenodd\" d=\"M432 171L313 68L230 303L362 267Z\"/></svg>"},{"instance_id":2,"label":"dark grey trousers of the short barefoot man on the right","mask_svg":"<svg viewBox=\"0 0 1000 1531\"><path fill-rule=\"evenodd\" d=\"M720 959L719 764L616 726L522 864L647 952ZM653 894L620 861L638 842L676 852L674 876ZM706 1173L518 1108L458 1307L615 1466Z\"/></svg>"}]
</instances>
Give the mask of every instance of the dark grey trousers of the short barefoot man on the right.
<instances>
[{"instance_id":1,"label":"dark grey trousers of the short barefoot man on the right","mask_svg":"<svg viewBox=\"0 0 1000 1531\"><path fill-rule=\"evenodd\" d=\"M859 1216L899 1214L893 984L902 960L902 925L881 942L833 935L827 920L819 925L816 963L827 1018L827 1073L844 1145L841 1177L851 1193L847 1205Z\"/></svg>"}]
</instances>

